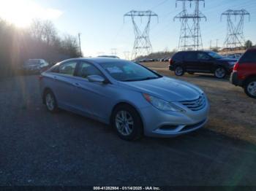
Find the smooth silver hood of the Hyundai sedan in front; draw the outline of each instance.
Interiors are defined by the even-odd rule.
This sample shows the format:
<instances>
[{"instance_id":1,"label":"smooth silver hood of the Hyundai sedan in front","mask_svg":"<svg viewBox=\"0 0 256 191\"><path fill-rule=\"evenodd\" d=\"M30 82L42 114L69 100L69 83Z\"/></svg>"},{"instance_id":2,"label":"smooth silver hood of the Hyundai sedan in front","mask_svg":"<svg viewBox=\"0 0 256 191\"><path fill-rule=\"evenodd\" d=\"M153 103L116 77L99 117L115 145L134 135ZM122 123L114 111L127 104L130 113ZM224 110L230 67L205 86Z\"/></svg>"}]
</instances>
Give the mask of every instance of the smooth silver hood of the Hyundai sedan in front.
<instances>
[{"instance_id":1,"label":"smooth silver hood of the Hyundai sedan in front","mask_svg":"<svg viewBox=\"0 0 256 191\"><path fill-rule=\"evenodd\" d=\"M187 101L197 99L203 93L199 87L178 79L162 77L136 82L120 82L124 87L140 93L148 93L166 101Z\"/></svg>"}]
</instances>

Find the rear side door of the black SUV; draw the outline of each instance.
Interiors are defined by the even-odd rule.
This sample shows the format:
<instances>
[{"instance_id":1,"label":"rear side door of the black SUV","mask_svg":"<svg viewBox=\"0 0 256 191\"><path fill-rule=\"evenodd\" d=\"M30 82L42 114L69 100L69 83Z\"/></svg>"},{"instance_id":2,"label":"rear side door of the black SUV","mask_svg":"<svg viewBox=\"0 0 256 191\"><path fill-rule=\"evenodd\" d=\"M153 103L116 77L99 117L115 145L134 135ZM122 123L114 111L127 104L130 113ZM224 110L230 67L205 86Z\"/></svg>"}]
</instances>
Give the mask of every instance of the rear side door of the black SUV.
<instances>
[{"instance_id":1,"label":"rear side door of the black SUV","mask_svg":"<svg viewBox=\"0 0 256 191\"><path fill-rule=\"evenodd\" d=\"M184 53L184 66L187 71L198 71L197 52Z\"/></svg>"}]
</instances>

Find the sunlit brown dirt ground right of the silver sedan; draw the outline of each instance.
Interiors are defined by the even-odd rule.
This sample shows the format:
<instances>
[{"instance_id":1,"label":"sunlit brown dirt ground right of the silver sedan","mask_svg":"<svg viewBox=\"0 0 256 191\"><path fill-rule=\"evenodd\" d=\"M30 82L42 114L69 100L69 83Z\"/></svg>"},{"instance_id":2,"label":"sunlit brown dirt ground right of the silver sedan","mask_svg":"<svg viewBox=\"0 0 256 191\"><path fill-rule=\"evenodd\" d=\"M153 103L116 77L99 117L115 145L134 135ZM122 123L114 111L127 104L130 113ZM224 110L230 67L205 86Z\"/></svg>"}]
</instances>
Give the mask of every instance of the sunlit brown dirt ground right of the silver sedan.
<instances>
[{"instance_id":1,"label":"sunlit brown dirt ground right of the silver sedan","mask_svg":"<svg viewBox=\"0 0 256 191\"><path fill-rule=\"evenodd\" d=\"M211 103L210 120L206 128L256 144L256 100L247 97L241 87L231 85L228 77L216 79L211 74L176 77L173 71L167 69L166 62L143 65L165 76L192 82L203 88Z\"/></svg>"}]
</instances>

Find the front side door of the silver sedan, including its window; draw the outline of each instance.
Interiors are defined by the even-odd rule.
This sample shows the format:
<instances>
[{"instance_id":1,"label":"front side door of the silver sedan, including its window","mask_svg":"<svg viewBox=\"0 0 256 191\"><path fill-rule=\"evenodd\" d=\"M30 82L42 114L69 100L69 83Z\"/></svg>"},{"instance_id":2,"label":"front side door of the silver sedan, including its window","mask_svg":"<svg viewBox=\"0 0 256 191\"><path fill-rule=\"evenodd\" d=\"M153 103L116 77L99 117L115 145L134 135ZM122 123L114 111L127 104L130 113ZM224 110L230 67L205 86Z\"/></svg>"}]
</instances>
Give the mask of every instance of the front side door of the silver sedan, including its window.
<instances>
[{"instance_id":1,"label":"front side door of the silver sedan, including its window","mask_svg":"<svg viewBox=\"0 0 256 191\"><path fill-rule=\"evenodd\" d=\"M112 84L89 82L87 77L91 75L106 78L94 64L81 61L75 77L75 106L82 114L108 121L115 98L115 87Z\"/></svg>"}]
</instances>

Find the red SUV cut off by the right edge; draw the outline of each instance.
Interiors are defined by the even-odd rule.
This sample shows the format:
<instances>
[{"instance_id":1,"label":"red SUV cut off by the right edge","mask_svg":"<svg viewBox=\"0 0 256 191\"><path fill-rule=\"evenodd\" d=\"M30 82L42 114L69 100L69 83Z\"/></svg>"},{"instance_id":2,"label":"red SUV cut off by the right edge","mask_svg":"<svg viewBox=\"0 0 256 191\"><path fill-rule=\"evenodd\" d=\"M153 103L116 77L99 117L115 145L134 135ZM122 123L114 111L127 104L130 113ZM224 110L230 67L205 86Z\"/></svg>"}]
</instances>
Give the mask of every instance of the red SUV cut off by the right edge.
<instances>
[{"instance_id":1,"label":"red SUV cut off by the right edge","mask_svg":"<svg viewBox=\"0 0 256 191\"><path fill-rule=\"evenodd\" d=\"M256 98L256 49L247 50L239 59L230 77L233 85L244 88L251 98Z\"/></svg>"}]
</instances>

